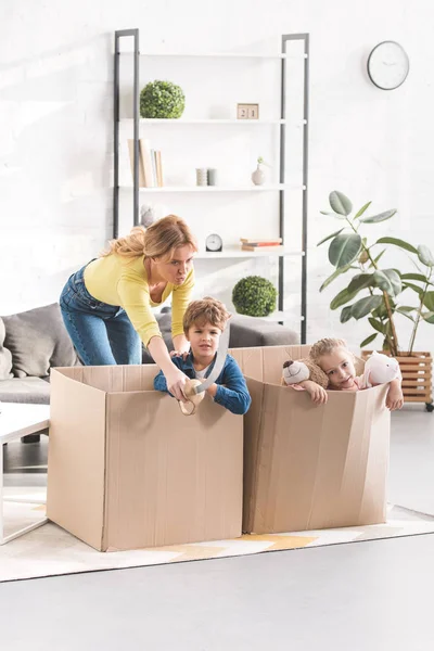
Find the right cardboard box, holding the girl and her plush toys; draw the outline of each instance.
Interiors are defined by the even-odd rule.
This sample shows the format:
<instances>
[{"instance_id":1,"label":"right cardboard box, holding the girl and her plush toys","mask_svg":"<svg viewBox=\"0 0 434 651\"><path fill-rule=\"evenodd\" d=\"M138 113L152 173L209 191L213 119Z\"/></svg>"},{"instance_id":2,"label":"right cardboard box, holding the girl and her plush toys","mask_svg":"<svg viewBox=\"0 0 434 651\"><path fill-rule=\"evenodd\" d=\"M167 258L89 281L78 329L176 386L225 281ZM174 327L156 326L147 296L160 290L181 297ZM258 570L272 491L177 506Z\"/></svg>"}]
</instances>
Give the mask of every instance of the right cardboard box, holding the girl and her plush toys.
<instances>
[{"instance_id":1,"label":"right cardboard box, holding the girl and her plush toys","mask_svg":"<svg viewBox=\"0 0 434 651\"><path fill-rule=\"evenodd\" d=\"M329 392L315 406L280 385L285 359L309 346L239 348L252 395L244 417L247 533L291 532L385 521L391 414L387 386Z\"/></svg>"}]
</instances>

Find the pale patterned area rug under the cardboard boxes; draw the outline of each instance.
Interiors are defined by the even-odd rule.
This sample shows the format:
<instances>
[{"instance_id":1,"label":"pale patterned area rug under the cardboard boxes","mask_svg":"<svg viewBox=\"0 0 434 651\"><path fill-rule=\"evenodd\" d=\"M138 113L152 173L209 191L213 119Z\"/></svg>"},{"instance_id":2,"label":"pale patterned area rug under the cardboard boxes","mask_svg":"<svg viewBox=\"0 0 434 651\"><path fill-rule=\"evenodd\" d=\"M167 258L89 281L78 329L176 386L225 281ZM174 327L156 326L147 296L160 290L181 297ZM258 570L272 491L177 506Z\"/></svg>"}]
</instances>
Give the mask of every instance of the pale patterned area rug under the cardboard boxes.
<instances>
[{"instance_id":1,"label":"pale patterned area rug under the cardboard boxes","mask_svg":"<svg viewBox=\"0 0 434 651\"><path fill-rule=\"evenodd\" d=\"M13 495L15 493L15 495ZM26 499L41 499L43 489L9 489L8 497L20 502L4 502L5 535L40 520L43 503L27 503ZM434 518L390 505L387 522L367 526L352 526L284 534L244 535L233 540L214 540L175 545L133 551L99 552L78 540L58 525L43 526L0 547L0 582L80 572L95 572L143 565L221 559L235 556L282 551L380 538L413 536L434 533Z\"/></svg>"}]
</instances>

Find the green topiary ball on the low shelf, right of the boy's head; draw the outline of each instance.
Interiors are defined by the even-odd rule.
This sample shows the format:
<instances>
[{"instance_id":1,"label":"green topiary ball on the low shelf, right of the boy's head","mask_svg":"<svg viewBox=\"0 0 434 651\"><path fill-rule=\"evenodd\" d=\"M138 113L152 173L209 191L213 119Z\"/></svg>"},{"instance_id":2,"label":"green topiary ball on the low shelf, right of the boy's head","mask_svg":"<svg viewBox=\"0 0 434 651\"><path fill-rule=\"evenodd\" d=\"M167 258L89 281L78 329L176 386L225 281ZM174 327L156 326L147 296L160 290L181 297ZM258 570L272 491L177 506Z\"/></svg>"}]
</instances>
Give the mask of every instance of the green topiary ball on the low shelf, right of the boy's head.
<instances>
[{"instance_id":1,"label":"green topiary ball on the low shelf, right of the boy's head","mask_svg":"<svg viewBox=\"0 0 434 651\"><path fill-rule=\"evenodd\" d=\"M276 310L278 292L275 285L260 276L247 276L232 290L232 303L239 315L268 317Z\"/></svg>"}]
</instances>

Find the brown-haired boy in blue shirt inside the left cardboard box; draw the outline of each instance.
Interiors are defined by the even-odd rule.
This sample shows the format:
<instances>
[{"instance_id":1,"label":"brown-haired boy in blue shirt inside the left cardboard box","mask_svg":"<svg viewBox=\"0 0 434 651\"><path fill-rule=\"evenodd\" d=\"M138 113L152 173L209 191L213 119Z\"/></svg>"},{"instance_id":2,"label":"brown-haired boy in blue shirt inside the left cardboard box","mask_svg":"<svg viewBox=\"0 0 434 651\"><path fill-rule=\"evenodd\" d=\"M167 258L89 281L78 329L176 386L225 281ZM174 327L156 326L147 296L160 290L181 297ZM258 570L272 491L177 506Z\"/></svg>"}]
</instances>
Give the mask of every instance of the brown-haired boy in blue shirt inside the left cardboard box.
<instances>
[{"instance_id":1,"label":"brown-haired boy in blue shirt inside the left cardboard box","mask_svg":"<svg viewBox=\"0 0 434 651\"><path fill-rule=\"evenodd\" d=\"M183 331L190 342L190 353L171 359L190 380L209 375L220 334L229 317L224 304L210 296L190 303L183 317ZM154 379L154 388L169 393L162 371ZM221 373L206 393L232 413L245 413L252 401L241 369L230 355L227 355Z\"/></svg>"}]
</instances>

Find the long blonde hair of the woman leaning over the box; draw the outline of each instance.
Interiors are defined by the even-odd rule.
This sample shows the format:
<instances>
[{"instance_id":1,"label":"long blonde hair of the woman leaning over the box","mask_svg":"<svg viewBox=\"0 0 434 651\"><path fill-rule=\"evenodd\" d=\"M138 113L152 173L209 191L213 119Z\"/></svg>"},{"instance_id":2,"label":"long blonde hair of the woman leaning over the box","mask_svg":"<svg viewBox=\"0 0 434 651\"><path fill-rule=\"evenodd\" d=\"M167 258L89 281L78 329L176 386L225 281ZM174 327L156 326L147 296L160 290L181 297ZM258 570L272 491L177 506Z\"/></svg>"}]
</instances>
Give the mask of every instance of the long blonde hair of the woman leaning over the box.
<instances>
[{"instance_id":1,"label":"long blonde hair of the woman leaning over the box","mask_svg":"<svg viewBox=\"0 0 434 651\"><path fill-rule=\"evenodd\" d=\"M129 235L111 240L108 251L102 256L116 253L124 257L167 257L170 259L175 248L189 244L197 251L196 240L183 219L168 215L151 224L148 228L135 226Z\"/></svg>"}]
</instances>

